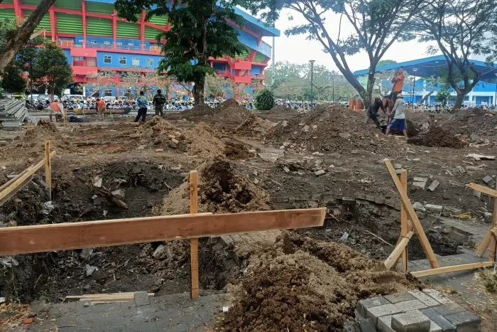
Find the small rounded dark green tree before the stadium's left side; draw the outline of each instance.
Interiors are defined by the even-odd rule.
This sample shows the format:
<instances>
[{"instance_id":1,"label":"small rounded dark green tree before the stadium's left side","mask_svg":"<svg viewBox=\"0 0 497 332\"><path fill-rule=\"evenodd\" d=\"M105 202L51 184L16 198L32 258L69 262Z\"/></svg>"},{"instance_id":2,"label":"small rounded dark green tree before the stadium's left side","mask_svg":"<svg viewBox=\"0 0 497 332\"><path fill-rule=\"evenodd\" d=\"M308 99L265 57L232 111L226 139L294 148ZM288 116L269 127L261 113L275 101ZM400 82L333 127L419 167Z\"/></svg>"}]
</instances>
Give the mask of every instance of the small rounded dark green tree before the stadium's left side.
<instances>
[{"instance_id":1,"label":"small rounded dark green tree before the stadium's left side","mask_svg":"<svg viewBox=\"0 0 497 332\"><path fill-rule=\"evenodd\" d=\"M38 50L33 65L33 79L38 85L48 87L50 95L55 93L61 95L67 84L72 81L72 69L62 48L55 43L45 43L45 46Z\"/></svg>"}]
</instances>

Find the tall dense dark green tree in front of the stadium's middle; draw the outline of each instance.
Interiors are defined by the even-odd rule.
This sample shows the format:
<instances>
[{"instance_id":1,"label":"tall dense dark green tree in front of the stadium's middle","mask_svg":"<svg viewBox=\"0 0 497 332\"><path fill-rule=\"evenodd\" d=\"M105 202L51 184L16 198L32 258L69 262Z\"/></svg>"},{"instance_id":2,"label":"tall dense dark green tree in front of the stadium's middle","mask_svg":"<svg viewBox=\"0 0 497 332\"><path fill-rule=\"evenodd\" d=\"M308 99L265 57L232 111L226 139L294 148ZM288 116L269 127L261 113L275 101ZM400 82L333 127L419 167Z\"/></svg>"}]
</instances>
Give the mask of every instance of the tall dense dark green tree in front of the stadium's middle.
<instances>
[{"instance_id":1,"label":"tall dense dark green tree in front of the stadium's middle","mask_svg":"<svg viewBox=\"0 0 497 332\"><path fill-rule=\"evenodd\" d=\"M194 82L195 104L204 102L206 75L214 75L209 58L234 57L241 54L244 46L238 41L238 32L226 18L242 26L241 16L235 14L238 1L217 0L116 0L114 6L119 16L138 21L143 9L148 9L146 20L152 16L168 16L170 30L160 33L157 41L165 38L162 45L159 73L167 71L180 82Z\"/></svg>"}]
</instances>

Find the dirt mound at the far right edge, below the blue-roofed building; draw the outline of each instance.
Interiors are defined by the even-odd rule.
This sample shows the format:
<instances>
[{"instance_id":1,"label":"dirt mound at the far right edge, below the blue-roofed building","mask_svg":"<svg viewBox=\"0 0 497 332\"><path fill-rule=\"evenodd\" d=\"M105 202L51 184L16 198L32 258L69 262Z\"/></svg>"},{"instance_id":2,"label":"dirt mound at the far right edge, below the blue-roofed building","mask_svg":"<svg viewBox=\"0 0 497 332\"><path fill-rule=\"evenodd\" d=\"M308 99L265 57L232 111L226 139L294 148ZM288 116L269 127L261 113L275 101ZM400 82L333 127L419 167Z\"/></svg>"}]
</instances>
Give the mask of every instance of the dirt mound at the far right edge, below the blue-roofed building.
<instances>
[{"instance_id":1,"label":"dirt mound at the far right edge, below the blue-roofed building","mask_svg":"<svg viewBox=\"0 0 497 332\"><path fill-rule=\"evenodd\" d=\"M452 114L441 126L454 134L493 136L497 135L497 114L491 109L475 107Z\"/></svg>"}]
</instances>

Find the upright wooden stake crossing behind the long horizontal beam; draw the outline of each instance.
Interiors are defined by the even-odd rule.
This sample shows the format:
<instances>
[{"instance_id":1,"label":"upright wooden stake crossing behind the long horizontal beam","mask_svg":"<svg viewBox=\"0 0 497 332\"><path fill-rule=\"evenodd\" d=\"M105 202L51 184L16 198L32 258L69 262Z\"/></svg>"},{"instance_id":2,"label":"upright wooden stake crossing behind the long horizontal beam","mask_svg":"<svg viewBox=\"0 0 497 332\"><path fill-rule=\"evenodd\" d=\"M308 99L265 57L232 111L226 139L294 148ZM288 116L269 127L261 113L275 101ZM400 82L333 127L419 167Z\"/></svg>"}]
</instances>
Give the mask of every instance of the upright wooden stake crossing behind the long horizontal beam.
<instances>
[{"instance_id":1,"label":"upright wooden stake crossing behind the long horizontal beam","mask_svg":"<svg viewBox=\"0 0 497 332\"><path fill-rule=\"evenodd\" d=\"M190 171L190 213L198 213L198 173ZM190 265L192 273L192 299L199 297L199 239L190 239Z\"/></svg>"}]
</instances>

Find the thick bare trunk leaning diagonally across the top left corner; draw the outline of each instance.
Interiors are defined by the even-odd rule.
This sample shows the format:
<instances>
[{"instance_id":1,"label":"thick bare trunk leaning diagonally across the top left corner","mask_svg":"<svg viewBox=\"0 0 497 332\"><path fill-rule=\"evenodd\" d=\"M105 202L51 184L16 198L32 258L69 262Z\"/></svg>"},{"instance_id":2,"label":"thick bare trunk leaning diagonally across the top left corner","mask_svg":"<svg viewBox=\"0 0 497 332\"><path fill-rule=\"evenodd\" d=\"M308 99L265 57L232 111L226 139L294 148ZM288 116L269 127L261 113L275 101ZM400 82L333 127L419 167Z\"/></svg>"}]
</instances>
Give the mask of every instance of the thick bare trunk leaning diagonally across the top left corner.
<instances>
[{"instance_id":1,"label":"thick bare trunk leaning diagonally across the top left corner","mask_svg":"<svg viewBox=\"0 0 497 332\"><path fill-rule=\"evenodd\" d=\"M0 50L0 74L4 73L5 68L16 56L19 48L26 44L31 37L31 33L35 31L35 28L54 2L55 0L42 0L33 11L33 14L17 29L14 36L5 43L4 48Z\"/></svg>"}]
</instances>

